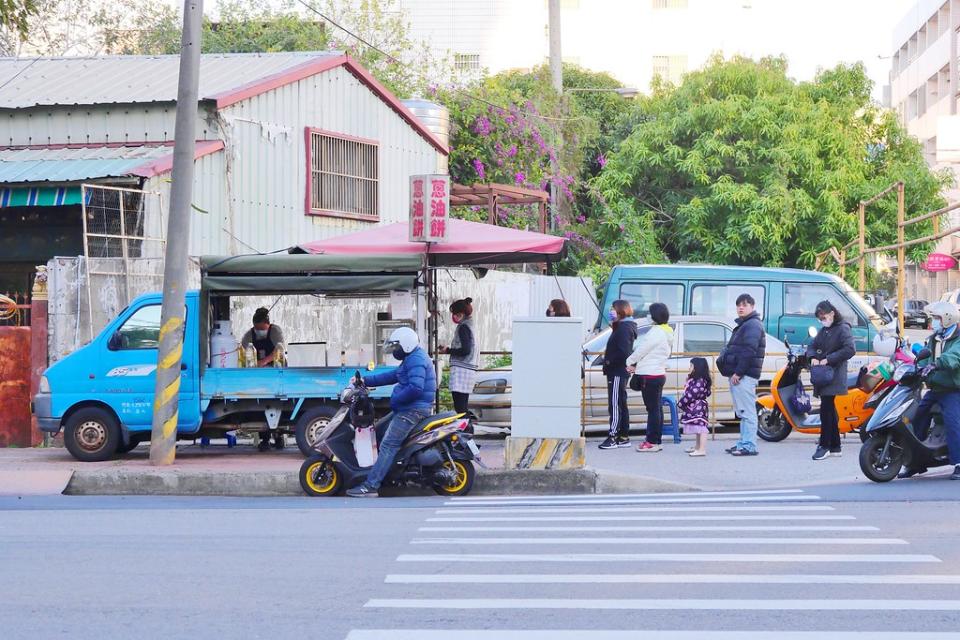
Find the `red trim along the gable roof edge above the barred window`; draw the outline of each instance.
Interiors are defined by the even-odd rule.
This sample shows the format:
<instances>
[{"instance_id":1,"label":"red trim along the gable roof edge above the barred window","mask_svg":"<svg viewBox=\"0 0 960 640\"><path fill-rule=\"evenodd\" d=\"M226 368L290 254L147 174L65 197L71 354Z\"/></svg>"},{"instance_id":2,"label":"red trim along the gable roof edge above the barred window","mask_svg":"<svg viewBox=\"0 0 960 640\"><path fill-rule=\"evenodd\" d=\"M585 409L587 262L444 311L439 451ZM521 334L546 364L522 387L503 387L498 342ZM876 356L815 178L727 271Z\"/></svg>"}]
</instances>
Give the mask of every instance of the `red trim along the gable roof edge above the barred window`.
<instances>
[{"instance_id":1,"label":"red trim along the gable roof edge above the barred window","mask_svg":"<svg viewBox=\"0 0 960 640\"><path fill-rule=\"evenodd\" d=\"M266 93L267 91L271 91L284 85L298 82L305 78L309 78L310 76L324 73L325 71L330 71L331 69L336 69L337 67L346 67L355 78L360 80L360 82L365 84L368 89L373 91L381 100L386 102L391 109L393 109L401 118L406 120L407 123L413 127L427 142L436 148L437 151L444 155L450 155L450 149L436 136L436 134L433 133L433 131L430 131L430 129L420 122L420 120L413 115L413 112L404 106L404 104L400 102L400 100L393 95L389 89L387 89L385 86L383 86L383 84L380 83L379 80L373 77L373 74L367 71L360 65L360 63L350 56L336 56L310 60L308 62L290 67L286 71L281 71L280 73L275 73L273 75L260 78L259 80L254 80L253 82L241 85L236 89L231 89L229 91L208 96L205 99L215 101L218 110L224 109L242 100L252 98L260 95L261 93Z\"/></svg>"}]
</instances>

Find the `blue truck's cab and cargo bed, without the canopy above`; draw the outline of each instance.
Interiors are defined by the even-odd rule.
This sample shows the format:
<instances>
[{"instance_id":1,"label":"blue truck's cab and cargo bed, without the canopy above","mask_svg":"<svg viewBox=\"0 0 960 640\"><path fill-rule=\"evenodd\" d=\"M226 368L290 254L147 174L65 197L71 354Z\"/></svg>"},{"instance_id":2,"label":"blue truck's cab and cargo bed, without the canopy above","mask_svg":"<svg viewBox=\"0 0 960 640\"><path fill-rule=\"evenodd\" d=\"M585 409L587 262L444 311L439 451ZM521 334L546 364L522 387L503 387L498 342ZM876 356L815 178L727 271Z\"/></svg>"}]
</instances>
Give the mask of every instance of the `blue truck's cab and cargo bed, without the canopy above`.
<instances>
[{"instance_id":1,"label":"blue truck's cab and cargo bed, without the canopy above","mask_svg":"<svg viewBox=\"0 0 960 640\"><path fill-rule=\"evenodd\" d=\"M187 293L178 438L269 427L295 435L298 444L309 439L310 430L335 413L354 370L207 367L200 300L198 291ZM63 429L77 459L105 460L150 439L161 302L159 293L140 296L92 342L44 373L33 403L37 423L51 434ZM389 393L389 387L376 389L374 397Z\"/></svg>"}]
</instances>

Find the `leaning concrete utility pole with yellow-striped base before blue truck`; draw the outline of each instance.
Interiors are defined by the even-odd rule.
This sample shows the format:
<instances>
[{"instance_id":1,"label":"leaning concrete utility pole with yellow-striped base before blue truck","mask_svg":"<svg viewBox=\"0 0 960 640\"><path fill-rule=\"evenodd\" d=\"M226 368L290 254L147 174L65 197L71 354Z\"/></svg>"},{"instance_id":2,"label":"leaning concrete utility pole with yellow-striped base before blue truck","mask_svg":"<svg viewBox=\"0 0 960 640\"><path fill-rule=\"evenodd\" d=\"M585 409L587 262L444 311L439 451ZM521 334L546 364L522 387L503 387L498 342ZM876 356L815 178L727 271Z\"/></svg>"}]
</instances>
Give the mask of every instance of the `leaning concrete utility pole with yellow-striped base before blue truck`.
<instances>
[{"instance_id":1,"label":"leaning concrete utility pole with yellow-striped base before blue truck","mask_svg":"<svg viewBox=\"0 0 960 640\"><path fill-rule=\"evenodd\" d=\"M177 450L177 406L183 360L202 21L203 0L184 0L170 215L167 218L167 248L163 267L163 306L160 310L160 348L157 354L153 430L150 434L150 464L153 465L173 464Z\"/></svg>"}]
</instances>

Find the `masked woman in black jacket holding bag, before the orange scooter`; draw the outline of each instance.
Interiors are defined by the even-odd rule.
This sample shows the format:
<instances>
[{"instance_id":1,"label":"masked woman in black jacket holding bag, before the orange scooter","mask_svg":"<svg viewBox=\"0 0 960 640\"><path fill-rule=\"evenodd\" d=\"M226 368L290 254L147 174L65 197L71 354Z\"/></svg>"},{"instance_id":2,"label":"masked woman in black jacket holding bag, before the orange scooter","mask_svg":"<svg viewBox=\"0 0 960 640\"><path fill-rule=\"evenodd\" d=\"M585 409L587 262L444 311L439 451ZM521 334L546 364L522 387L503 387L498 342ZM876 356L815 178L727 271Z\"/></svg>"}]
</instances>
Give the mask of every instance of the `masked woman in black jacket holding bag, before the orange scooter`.
<instances>
[{"instance_id":1,"label":"masked woman in black jacket holding bag, before the orange scooter","mask_svg":"<svg viewBox=\"0 0 960 640\"><path fill-rule=\"evenodd\" d=\"M820 396L820 441L813 454L814 460L830 456L840 457L840 423L836 398L847 394L847 362L857 353L850 325L829 300L817 304L814 311L822 325L813 342L807 347L810 365L829 365L833 378L823 386L814 386Z\"/></svg>"}]
</instances>

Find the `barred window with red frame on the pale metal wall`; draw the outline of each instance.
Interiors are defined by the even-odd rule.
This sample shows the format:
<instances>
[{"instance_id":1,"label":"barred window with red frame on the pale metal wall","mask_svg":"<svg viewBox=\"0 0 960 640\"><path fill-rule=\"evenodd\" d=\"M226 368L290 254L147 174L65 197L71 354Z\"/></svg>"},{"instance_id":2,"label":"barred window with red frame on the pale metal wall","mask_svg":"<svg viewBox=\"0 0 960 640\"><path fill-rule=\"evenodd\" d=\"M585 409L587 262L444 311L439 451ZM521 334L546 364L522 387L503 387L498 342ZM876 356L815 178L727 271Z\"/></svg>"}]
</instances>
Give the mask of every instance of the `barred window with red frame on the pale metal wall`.
<instances>
[{"instance_id":1,"label":"barred window with red frame on the pale metal wall","mask_svg":"<svg viewBox=\"0 0 960 640\"><path fill-rule=\"evenodd\" d=\"M379 146L308 129L307 213L378 221Z\"/></svg>"}]
</instances>

